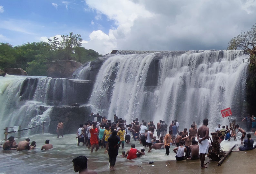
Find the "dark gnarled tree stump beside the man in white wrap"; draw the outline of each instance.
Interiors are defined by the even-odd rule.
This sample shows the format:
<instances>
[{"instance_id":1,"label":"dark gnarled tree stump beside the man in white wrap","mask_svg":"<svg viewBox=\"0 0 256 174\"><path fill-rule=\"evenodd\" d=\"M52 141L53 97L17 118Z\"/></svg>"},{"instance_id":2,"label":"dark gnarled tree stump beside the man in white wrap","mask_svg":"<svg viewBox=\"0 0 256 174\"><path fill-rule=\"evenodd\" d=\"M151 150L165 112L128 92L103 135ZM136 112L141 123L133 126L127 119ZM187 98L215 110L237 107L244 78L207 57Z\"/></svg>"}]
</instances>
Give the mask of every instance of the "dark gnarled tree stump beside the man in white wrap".
<instances>
[{"instance_id":1,"label":"dark gnarled tree stump beside the man in white wrap","mask_svg":"<svg viewBox=\"0 0 256 174\"><path fill-rule=\"evenodd\" d=\"M211 158L212 161L219 161L224 156L224 151L221 149L218 133L212 132L211 135L212 139L210 139L212 146L209 147L207 157Z\"/></svg>"}]
</instances>

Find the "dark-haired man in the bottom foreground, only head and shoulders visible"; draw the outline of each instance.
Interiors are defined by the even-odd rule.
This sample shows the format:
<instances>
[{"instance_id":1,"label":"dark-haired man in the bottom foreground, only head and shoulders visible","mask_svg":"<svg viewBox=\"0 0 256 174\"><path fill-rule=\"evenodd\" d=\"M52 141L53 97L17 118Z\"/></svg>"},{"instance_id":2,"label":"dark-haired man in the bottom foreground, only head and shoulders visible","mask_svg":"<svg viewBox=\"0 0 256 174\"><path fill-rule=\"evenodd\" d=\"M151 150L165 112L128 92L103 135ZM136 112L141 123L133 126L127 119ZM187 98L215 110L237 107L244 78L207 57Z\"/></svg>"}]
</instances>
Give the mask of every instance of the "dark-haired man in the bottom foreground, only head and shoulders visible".
<instances>
[{"instance_id":1,"label":"dark-haired man in the bottom foreground, only head and shoulders visible","mask_svg":"<svg viewBox=\"0 0 256 174\"><path fill-rule=\"evenodd\" d=\"M79 172L79 174L97 174L97 172L87 169L87 161L87 158L82 155L74 158L72 160L74 171Z\"/></svg>"}]
</instances>

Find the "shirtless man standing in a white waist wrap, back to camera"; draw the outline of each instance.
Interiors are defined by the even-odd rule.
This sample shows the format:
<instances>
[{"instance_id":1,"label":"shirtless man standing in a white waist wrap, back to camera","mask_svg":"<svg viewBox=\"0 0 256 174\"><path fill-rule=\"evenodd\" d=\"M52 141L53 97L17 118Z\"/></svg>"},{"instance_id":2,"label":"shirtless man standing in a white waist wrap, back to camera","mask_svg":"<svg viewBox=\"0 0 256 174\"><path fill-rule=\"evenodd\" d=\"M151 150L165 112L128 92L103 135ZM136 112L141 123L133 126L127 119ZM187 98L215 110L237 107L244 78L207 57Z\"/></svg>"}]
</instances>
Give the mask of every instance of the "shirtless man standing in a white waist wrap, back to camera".
<instances>
[{"instance_id":1,"label":"shirtless man standing in a white waist wrap, back to camera","mask_svg":"<svg viewBox=\"0 0 256 174\"><path fill-rule=\"evenodd\" d=\"M196 138L199 142L199 151L200 151L200 161L201 161L201 169L207 168L208 166L204 165L205 155L208 153L209 148L209 128L208 119L205 118L203 120L203 126L199 127Z\"/></svg>"}]
</instances>

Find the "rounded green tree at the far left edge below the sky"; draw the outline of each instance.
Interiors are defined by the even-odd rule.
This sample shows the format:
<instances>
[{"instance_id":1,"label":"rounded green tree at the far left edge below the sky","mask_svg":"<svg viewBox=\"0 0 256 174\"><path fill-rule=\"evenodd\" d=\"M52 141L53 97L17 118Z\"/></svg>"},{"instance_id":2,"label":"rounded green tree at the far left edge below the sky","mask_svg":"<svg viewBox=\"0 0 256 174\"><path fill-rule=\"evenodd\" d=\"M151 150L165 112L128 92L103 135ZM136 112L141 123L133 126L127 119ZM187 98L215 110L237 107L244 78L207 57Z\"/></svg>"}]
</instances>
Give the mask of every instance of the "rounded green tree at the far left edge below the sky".
<instances>
[{"instance_id":1,"label":"rounded green tree at the far left edge below the sky","mask_svg":"<svg viewBox=\"0 0 256 174\"><path fill-rule=\"evenodd\" d=\"M15 49L8 43L0 43L0 68L17 68Z\"/></svg>"}]
</instances>

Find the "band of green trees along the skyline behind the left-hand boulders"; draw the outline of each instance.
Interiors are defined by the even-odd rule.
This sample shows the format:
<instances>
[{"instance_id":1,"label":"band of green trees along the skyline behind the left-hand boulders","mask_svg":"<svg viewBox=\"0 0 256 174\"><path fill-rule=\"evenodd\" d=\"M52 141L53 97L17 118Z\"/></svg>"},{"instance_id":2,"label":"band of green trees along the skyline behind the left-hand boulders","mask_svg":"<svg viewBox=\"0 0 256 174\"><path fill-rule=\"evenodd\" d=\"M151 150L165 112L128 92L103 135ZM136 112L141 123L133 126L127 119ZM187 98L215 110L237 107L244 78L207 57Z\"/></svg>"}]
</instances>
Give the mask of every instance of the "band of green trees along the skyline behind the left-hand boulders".
<instances>
[{"instance_id":1,"label":"band of green trees along the skyline behind the left-hand boulders","mask_svg":"<svg viewBox=\"0 0 256 174\"><path fill-rule=\"evenodd\" d=\"M29 75L45 76L48 65L55 60L75 60L82 64L101 56L92 49L81 47L79 34L62 35L47 42L23 43L13 47L0 43L0 68L22 68Z\"/></svg>"}]
</instances>

